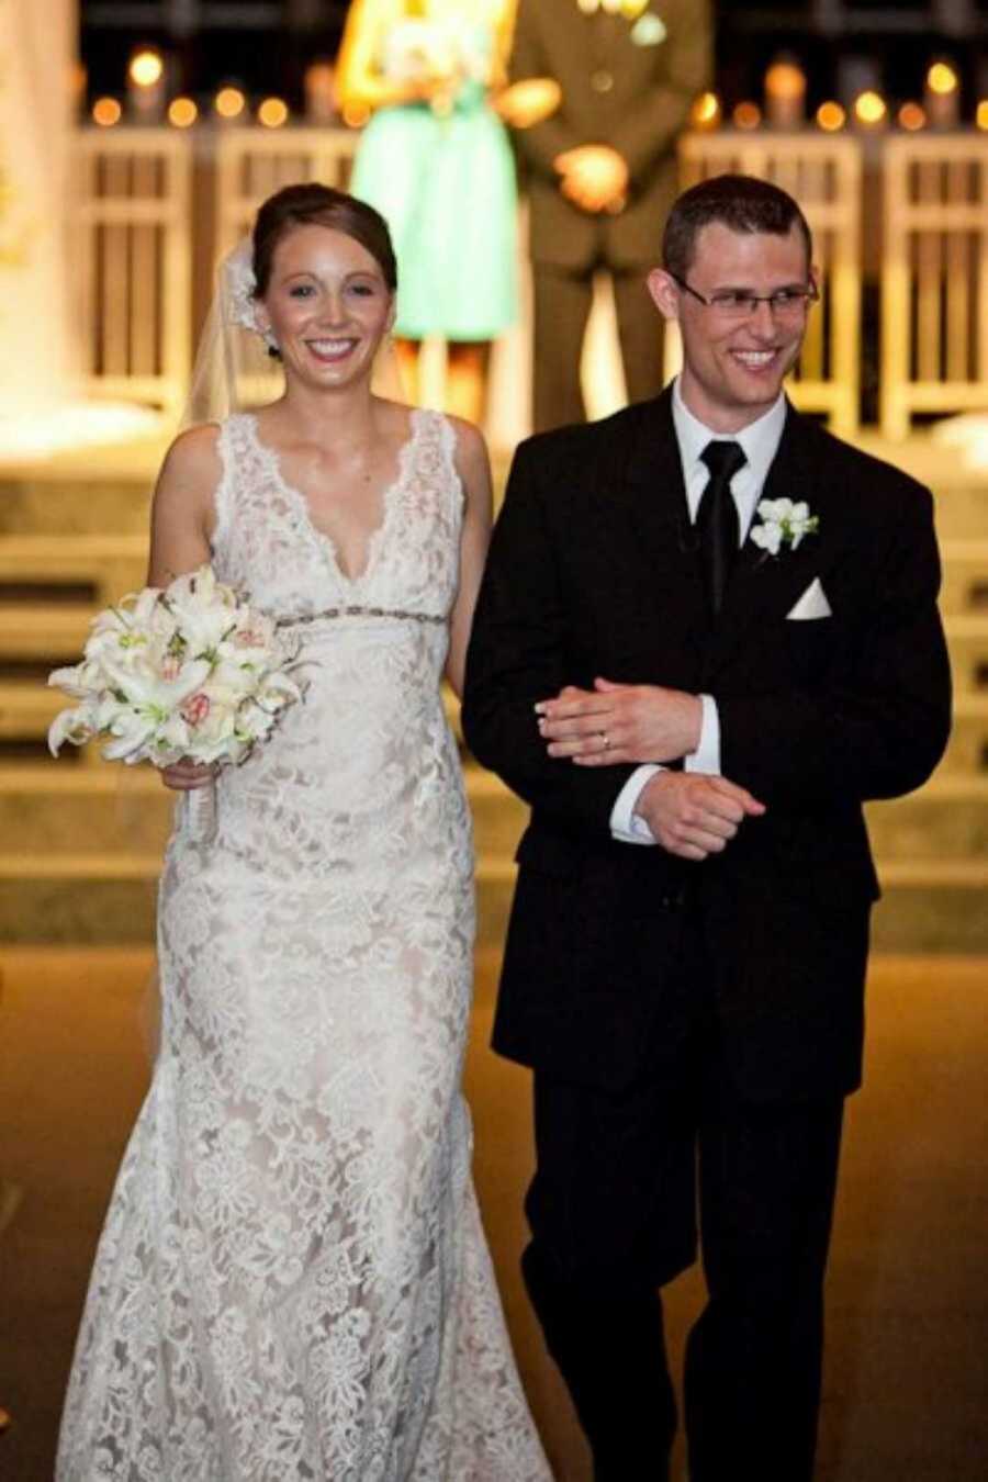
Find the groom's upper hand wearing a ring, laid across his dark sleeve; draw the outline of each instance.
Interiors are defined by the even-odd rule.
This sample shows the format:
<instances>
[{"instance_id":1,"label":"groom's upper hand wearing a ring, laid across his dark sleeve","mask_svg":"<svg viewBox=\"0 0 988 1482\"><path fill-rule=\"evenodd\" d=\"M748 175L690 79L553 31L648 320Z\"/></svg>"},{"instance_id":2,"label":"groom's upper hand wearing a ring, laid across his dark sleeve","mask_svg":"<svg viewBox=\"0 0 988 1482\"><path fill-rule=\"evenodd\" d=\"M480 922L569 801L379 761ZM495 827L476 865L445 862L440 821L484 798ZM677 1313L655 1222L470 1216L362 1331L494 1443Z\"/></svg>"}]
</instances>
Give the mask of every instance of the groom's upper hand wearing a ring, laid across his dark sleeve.
<instances>
[{"instance_id":1,"label":"groom's upper hand wearing a ring, laid across his dark sleeve","mask_svg":"<svg viewBox=\"0 0 988 1482\"><path fill-rule=\"evenodd\" d=\"M578 766L672 762L699 745L704 707L698 695L661 685L612 685L593 691L567 685L535 707L550 756Z\"/></svg>"}]
</instances>

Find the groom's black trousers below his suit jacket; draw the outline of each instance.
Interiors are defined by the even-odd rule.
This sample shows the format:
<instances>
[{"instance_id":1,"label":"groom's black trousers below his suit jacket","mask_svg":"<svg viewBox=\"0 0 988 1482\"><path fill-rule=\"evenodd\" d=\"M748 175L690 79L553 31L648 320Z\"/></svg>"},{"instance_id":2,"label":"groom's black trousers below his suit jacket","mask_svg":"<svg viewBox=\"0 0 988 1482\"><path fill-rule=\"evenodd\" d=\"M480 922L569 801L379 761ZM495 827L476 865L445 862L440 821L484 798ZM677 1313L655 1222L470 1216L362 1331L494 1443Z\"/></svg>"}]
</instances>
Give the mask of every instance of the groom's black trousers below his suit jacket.
<instances>
[{"instance_id":1,"label":"groom's black trousers below his suit jacket","mask_svg":"<svg viewBox=\"0 0 988 1482\"><path fill-rule=\"evenodd\" d=\"M843 1098L744 1101L696 988L677 1073L665 1057L621 1095L536 1073L523 1273L595 1482L665 1482L677 1412L658 1289L692 1264L699 1211L690 1479L810 1482Z\"/></svg>"}]
</instances>

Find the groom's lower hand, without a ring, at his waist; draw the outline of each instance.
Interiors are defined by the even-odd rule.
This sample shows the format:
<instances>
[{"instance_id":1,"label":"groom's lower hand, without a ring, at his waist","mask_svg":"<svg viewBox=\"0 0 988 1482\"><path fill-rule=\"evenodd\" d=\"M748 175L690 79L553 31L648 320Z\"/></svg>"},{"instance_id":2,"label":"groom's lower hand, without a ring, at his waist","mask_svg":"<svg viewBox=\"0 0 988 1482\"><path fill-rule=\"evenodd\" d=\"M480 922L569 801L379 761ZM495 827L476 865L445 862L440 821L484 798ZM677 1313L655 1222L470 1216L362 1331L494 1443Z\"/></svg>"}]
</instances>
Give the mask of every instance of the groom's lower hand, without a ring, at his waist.
<instances>
[{"instance_id":1,"label":"groom's lower hand, without a ring, at his waist","mask_svg":"<svg viewBox=\"0 0 988 1482\"><path fill-rule=\"evenodd\" d=\"M726 777L656 772L641 788L634 811L670 854L707 860L727 848L745 818L760 818L766 808Z\"/></svg>"}]
</instances>

